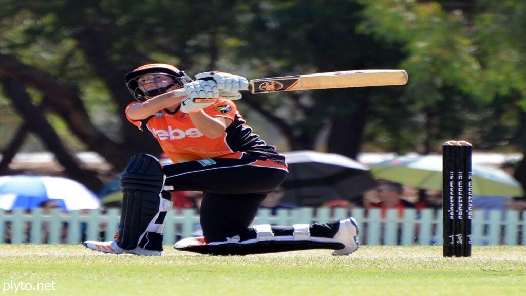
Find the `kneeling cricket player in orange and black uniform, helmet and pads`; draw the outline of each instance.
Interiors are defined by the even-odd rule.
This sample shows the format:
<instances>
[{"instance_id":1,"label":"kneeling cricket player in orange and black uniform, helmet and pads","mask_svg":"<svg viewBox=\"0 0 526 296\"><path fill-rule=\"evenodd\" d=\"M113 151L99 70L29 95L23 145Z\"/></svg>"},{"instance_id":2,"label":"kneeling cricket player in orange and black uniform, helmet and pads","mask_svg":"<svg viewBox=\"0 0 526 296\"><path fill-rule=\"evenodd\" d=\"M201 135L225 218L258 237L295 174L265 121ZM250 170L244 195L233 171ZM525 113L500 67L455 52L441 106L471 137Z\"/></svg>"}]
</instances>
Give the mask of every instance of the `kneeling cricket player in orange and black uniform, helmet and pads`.
<instances>
[{"instance_id":1,"label":"kneeling cricket player in orange and black uniform, helmet and pads","mask_svg":"<svg viewBox=\"0 0 526 296\"><path fill-rule=\"evenodd\" d=\"M246 255L358 249L352 218L325 224L249 227L260 203L287 176L285 157L252 132L232 100L248 90L246 78L205 72L192 81L167 64L148 64L126 76L137 100L127 119L151 133L174 164L161 166L146 153L133 156L120 178L123 205L112 241L86 241L96 251L160 255L163 221L171 209L169 191L203 191L203 238L178 241L174 248L214 255Z\"/></svg>"}]
</instances>

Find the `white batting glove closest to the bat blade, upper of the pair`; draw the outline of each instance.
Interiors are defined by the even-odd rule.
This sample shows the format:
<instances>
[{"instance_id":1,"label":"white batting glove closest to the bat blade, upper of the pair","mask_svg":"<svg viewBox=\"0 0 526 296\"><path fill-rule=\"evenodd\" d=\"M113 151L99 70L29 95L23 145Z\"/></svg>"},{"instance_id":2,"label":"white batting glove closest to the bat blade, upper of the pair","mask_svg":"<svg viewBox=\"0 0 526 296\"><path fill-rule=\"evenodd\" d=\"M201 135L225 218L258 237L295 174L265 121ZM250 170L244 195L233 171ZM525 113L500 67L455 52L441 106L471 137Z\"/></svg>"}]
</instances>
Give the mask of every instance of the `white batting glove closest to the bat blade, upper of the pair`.
<instances>
[{"instance_id":1,"label":"white batting glove closest to the bat blade, upper of the pair","mask_svg":"<svg viewBox=\"0 0 526 296\"><path fill-rule=\"evenodd\" d=\"M204 72L196 75L197 80L213 79L217 83L219 95L226 100L239 100L239 91L248 91L247 78L223 72Z\"/></svg>"}]
</instances>

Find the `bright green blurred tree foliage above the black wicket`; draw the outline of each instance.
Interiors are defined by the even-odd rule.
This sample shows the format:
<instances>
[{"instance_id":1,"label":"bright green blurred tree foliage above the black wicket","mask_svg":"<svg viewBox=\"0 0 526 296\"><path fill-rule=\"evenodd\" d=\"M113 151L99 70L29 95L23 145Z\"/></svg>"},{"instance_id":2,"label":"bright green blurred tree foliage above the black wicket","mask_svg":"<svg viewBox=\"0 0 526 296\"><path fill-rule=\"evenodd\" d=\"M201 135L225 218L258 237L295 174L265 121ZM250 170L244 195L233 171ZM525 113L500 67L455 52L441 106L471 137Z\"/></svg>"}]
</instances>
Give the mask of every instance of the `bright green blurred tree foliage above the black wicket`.
<instances>
[{"instance_id":1,"label":"bright green blurred tree foliage above the black wicket","mask_svg":"<svg viewBox=\"0 0 526 296\"><path fill-rule=\"evenodd\" d=\"M462 135L476 149L526 153L525 2L361 2L364 32L406 44L408 94L418 114L438 118L433 139ZM526 187L526 158L515 177Z\"/></svg>"}]
</instances>

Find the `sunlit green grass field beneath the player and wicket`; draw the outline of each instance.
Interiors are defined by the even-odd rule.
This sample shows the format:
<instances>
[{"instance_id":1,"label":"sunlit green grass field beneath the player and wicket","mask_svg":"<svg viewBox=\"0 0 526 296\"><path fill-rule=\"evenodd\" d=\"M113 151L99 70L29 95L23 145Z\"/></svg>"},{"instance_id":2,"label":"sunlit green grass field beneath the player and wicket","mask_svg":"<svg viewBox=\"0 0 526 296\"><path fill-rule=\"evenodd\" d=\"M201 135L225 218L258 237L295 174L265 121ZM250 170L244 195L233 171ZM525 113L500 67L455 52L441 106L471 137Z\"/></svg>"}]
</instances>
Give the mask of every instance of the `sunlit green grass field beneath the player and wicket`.
<instances>
[{"instance_id":1,"label":"sunlit green grass field beneath the player and wicket","mask_svg":"<svg viewBox=\"0 0 526 296\"><path fill-rule=\"evenodd\" d=\"M526 247L473 247L472 258L440 246L363 246L213 257L165 246L160 257L103 254L82 245L0 244L0 282L54 281L21 295L526 295ZM5 291L14 294L15 291Z\"/></svg>"}]
</instances>

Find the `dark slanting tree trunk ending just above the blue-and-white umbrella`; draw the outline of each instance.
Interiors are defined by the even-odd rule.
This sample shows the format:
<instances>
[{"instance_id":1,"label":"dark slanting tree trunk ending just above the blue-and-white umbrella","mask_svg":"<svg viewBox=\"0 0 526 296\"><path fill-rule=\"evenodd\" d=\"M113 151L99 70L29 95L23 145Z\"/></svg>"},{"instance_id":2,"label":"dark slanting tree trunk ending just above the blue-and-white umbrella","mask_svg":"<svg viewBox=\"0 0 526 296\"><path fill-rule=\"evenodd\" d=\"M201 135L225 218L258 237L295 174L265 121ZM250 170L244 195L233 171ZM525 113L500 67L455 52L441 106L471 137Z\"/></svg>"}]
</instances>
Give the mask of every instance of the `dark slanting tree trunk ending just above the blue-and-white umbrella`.
<instances>
[{"instance_id":1,"label":"dark slanting tree trunk ending just above the blue-and-white umbrella","mask_svg":"<svg viewBox=\"0 0 526 296\"><path fill-rule=\"evenodd\" d=\"M86 169L77 156L63 144L41 110L31 102L31 97L25 91L24 85L9 77L0 77L0 80L6 96L11 99L18 114L24 118L28 129L36 133L49 151L55 154L57 161L64 166L67 174L89 189L97 191L102 188L103 183L98 179L97 173Z\"/></svg>"}]
</instances>

